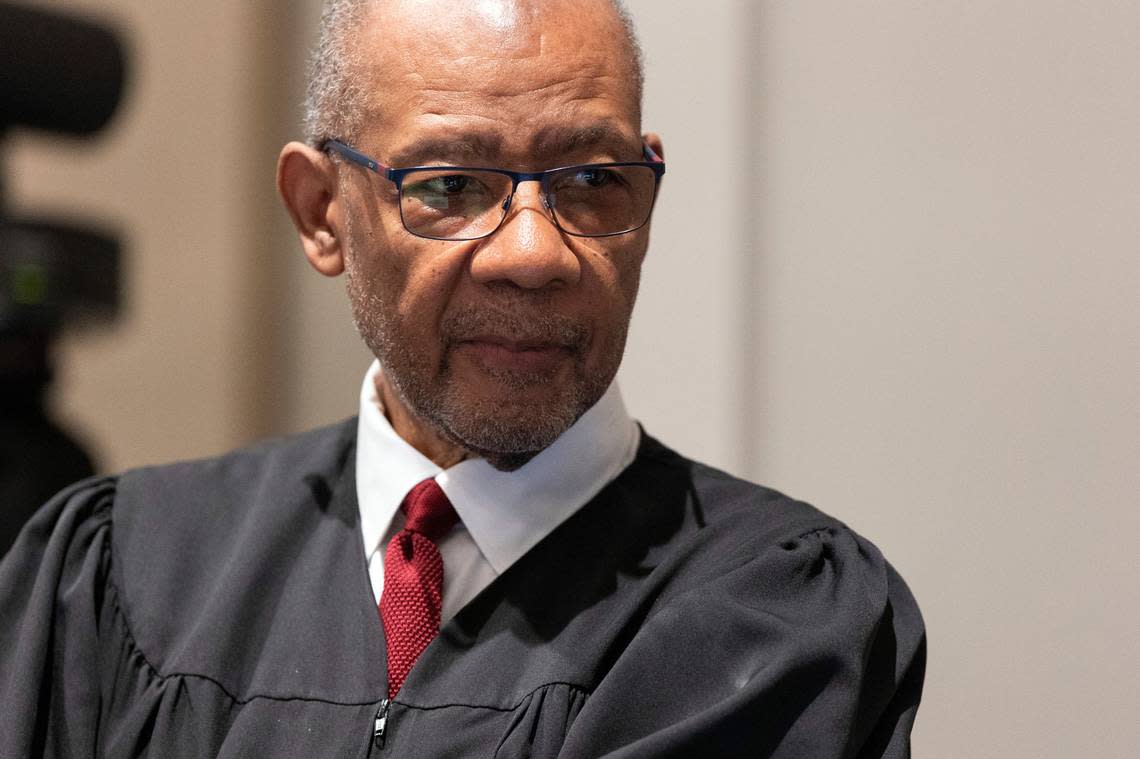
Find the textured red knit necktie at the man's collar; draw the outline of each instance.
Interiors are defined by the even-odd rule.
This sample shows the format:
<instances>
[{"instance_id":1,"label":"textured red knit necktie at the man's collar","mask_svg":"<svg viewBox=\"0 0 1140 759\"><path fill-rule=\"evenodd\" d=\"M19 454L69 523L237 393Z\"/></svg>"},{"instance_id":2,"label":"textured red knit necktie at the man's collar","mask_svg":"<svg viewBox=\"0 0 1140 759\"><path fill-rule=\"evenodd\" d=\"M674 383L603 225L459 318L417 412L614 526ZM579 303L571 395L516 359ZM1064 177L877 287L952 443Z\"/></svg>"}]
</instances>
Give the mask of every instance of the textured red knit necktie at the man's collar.
<instances>
[{"instance_id":1,"label":"textured red knit necktie at the man's collar","mask_svg":"<svg viewBox=\"0 0 1140 759\"><path fill-rule=\"evenodd\" d=\"M388 640L388 697L393 697L412 666L439 634L443 560L435 541L458 515L434 480L424 480L400 504L407 521L384 554L380 618Z\"/></svg>"}]
</instances>

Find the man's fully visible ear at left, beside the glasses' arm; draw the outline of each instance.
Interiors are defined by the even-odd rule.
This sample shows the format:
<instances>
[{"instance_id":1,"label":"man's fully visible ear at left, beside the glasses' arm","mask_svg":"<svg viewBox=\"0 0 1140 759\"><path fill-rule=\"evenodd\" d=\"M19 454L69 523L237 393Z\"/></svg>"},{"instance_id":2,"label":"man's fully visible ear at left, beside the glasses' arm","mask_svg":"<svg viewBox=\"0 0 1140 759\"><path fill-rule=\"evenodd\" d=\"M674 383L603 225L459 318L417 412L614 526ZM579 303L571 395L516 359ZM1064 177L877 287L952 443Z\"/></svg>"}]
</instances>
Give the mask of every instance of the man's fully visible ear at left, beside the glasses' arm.
<instances>
[{"instance_id":1,"label":"man's fully visible ear at left, beside the glasses' arm","mask_svg":"<svg viewBox=\"0 0 1140 759\"><path fill-rule=\"evenodd\" d=\"M277 158L277 191L312 268L326 277L343 272L336 166L328 156L303 142L286 145Z\"/></svg>"}]
</instances>

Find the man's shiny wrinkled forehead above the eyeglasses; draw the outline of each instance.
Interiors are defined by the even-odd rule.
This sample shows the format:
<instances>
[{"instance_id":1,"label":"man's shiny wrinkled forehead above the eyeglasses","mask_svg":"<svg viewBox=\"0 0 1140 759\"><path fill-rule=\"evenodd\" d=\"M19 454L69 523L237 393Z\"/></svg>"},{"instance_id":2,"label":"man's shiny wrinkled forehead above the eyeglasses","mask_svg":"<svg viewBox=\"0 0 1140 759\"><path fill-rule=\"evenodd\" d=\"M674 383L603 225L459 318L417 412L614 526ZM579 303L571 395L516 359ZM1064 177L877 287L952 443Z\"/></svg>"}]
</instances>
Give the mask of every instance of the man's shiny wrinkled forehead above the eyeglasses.
<instances>
[{"instance_id":1,"label":"man's shiny wrinkled forehead above the eyeglasses","mask_svg":"<svg viewBox=\"0 0 1140 759\"><path fill-rule=\"evenodd\" d=\"M519 161L637 144L632 60L608 0L390 0L358 34L361 138L396 165L449 141Z\"/></svg>"}]
</instances>

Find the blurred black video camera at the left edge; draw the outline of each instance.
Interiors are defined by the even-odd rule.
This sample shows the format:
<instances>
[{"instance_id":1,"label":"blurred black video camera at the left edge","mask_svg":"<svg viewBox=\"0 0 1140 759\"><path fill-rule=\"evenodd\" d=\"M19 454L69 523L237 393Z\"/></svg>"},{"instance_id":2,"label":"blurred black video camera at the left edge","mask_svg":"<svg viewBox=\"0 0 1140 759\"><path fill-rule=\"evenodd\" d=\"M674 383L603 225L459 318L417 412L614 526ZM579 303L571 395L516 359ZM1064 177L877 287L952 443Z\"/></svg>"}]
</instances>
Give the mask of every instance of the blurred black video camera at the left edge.
<instances>
[{"instance_id":1,"label":"blurred black video camera at the left edge","mask_svg":"<svg viewBox=\"0 0 1140 759\"><path fill-rule=\"evenodd\" d=\"M127 59L108 28L0 2L0 147L14 126L89 136L111 120ZM3 168L0 152L0 170ZM0 173L0 554L31 513L93 472L47 416L51 342L106 323L120 303L120 243L62 219L7 213Z\"/></svg>"}]
</instances>

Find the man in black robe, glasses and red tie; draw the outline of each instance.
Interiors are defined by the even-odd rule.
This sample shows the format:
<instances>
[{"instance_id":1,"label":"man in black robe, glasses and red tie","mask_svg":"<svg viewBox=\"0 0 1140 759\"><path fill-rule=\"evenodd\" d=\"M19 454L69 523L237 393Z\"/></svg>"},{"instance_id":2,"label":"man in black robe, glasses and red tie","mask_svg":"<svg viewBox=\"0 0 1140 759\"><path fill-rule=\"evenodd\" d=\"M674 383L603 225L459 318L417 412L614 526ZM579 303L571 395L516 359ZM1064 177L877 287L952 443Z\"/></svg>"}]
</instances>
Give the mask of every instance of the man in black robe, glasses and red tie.
<instances>
[{"instance_id":1,"label":"man in black robe, glasses and red tie","mask_svg":"<svg viewBox=\"0 0 1140 759\"><path fill-rule=\"evenodd\" d=\"M57 497L0 569L0 752L909 754L902 580L612 384L640 98L611 0L329 5L278 185L378 359L360 417Z\"/></svg>"}]
</instances>

